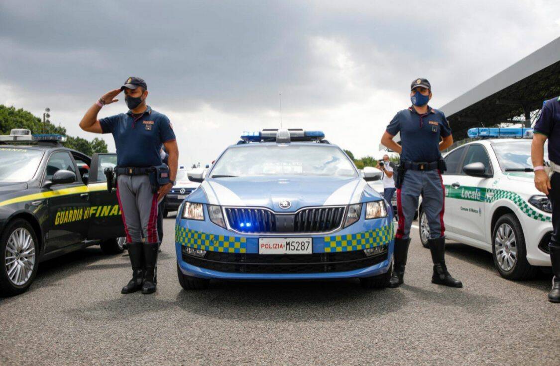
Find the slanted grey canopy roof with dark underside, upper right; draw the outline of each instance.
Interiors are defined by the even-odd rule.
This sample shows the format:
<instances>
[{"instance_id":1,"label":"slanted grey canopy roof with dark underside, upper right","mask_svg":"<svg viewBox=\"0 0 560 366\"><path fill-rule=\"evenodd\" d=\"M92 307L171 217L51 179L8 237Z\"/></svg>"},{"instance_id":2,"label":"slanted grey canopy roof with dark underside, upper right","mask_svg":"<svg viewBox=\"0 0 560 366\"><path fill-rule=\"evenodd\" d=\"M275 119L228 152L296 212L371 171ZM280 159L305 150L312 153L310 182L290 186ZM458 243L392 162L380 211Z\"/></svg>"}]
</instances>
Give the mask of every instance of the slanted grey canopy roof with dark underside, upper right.
<instances>
[{"instance_id":1,"label":"slanted grey canopy roof with dark underside, upper right","mask_svg":"<svg viewBox=\"0 0 560 366\"><path fill-rule=\"evenodd\" d=\"M531 111L559 94L560 37L440 109L460 140L470 127L493 126L520 115L529 120Z\"/></svg>"}]
</instances>

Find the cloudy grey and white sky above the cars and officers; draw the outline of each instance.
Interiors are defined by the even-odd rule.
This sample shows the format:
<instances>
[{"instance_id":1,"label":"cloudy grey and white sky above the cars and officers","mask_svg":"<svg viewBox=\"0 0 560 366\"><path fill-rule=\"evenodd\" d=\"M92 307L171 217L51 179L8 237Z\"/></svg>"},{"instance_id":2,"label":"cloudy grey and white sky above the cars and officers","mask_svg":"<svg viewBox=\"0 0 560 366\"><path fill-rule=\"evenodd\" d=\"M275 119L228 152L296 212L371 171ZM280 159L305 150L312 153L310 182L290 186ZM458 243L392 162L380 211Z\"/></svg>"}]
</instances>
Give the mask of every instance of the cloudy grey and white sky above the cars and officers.
<instances>
[{"instance_id":1,"label":"cloudy grey and white sky above the cars and officers","mask_svg":"<svg viewBox=\"0 0 560 366\"><path fill-rule=\"evenodd\" d=\"M377 155L411 80L440 107L560 36L558 1L0 2L0 104L71 135L132 75L171 118L180 163L212 161L244 130L320 129ZM126 111L124 98L100 117ZM103 136L114 150L113 137Z\"/></svg>"}]
</instances>

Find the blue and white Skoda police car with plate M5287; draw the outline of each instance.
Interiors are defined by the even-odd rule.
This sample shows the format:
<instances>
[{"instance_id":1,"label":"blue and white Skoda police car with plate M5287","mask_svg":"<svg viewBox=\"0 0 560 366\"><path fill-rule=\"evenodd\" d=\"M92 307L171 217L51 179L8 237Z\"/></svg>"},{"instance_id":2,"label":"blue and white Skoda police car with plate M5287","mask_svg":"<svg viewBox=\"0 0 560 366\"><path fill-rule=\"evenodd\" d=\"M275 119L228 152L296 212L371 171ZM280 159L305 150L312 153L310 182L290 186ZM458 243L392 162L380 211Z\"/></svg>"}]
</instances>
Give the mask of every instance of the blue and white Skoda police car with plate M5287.
<instances>
[{"instance_id":1,"label":"blue and white Skoda police car with plate M5287","mask_svg":"<svg viewBox=\"0 0 560 366\"><path fill-rule=\"evenodd\" d=\"M179 207L178 277L185 289L210 279L360 278L385 287L393 268L393 218L384 199L323 132L245 133Z\"/></svg>"}]
</instances>

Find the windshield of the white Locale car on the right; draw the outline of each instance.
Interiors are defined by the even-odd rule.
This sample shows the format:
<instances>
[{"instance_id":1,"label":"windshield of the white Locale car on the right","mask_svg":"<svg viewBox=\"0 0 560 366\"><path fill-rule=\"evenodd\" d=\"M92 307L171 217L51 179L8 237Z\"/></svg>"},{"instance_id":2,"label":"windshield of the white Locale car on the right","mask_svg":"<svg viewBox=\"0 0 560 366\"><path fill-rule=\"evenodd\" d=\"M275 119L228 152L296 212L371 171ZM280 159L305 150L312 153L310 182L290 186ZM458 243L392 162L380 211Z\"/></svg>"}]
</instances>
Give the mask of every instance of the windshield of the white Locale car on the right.
<instances>
[{"instance_id":1,"label":"windshield of the white Locale car on the right","mask_svg":"<svg viewBox=\"0 0 560 366\"><path fill-rule=\"evenodd\" d=\"M504 172L533 171L531 140L496 142L492 148ZM544 161L548 161L548 142L544 145Z\"/></svg>"}]
</instances>

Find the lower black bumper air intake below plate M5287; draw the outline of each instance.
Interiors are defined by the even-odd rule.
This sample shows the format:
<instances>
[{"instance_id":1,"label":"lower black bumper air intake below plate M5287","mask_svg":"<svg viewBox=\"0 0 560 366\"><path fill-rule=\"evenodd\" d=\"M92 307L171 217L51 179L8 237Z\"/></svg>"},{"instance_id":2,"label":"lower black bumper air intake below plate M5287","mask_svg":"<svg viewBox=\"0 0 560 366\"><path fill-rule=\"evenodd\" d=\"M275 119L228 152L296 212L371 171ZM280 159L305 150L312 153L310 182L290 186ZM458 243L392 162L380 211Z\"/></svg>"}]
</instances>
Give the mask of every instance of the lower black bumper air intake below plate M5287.
<instances>
[{"instance_id":1,"label":"lower black bumper air intake below plate M5287","mask_svg":"<svg viewBox=\"0 0 560 366\"><path fill-rule=\"evenodd\" d=\"M387 251L366 256L363 250L340 253L256 254L208 251L204 258L185 253L183 261L196 267L230 273L329 273L370 267L387 259Z\"/></svg>"}]
</instances>

